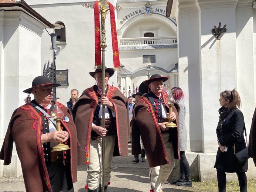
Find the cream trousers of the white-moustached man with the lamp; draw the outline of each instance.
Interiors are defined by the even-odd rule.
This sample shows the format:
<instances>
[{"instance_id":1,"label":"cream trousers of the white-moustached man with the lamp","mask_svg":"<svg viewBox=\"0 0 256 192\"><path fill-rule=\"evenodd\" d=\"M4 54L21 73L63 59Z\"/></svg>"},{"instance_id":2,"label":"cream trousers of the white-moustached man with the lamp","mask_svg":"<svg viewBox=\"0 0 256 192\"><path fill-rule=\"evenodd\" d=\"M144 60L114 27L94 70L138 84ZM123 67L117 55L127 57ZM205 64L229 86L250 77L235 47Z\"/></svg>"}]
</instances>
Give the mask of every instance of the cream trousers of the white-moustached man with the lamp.
<instances>
[{"instance_id":1,"label":"cream trousers of the white-moustached man with the lamp","mask_svg":"<svg viewBox=\"0 0 256 192\"><path fill-rule=\"evenodd\" d=\"M169 175L171 174L171 171L173 171L173 168L174 168L173 144L168 141L169 135L170 135L169 133L164 133L163 141L164 141L167 156L168 156L171 164L165 164L162 166L149 168L150 185L151 185L151 189L154 192L161 191L161 186L168 179ZM156 159L156 161L157 161L157 159Z\"/></svg>"}]
</instances>

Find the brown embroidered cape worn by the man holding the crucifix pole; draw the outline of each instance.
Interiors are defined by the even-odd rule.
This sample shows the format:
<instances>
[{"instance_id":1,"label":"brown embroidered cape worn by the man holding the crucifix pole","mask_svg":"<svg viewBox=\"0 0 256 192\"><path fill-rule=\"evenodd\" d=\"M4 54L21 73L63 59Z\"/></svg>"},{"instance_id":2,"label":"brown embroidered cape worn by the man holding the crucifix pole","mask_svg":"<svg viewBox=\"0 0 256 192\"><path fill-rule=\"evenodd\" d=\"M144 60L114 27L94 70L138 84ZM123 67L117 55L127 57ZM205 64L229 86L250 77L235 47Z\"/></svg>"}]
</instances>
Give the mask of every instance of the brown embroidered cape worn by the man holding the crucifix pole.
<instances>
[{"instance_id":1,"label":"brown embroidered cape worn by the man holding the crucifix pole","mask_svg":"<svg viewBox=\"0 0 256 192\"><path fill-rule=\"evenodd\" d=\"M113 156L128 156L130 134L128 100L116 87L107 85L106 97L113 103L116 113L117 136ZM99 102L93 86L83 91L72 109L78 141L78 164L90 164L90 142L93 116ZM107 109L106 109L107 110Z\"/></svg>"}]
</instances>

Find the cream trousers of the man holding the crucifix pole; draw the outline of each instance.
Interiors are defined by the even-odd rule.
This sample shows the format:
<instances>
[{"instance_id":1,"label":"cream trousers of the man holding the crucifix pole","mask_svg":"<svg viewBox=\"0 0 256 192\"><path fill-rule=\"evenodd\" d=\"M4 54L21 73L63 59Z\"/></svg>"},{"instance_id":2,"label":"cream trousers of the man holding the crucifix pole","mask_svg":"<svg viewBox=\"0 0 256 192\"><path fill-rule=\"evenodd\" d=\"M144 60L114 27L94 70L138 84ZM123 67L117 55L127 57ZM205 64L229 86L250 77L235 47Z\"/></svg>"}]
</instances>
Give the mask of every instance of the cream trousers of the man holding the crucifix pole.
<instances>
[{"instance_id":1,"label":"cream trousers of the man holding the crucifix pole","mask_svg":"<svg viewBox=\"0 0 256 192\"><path fill-rule=\"evenodd\" d=\"M116 136L106 136L105 137L105 172L104 172L104 182L105 186L110 180L111 173L111 161L113 158L113 152L115 147ZM101 155L101 145L102 138L97 137L96 140L91 140L90 147L90 164L87 169L87 185L90 190L97 189L98 184L101 184L101 170L100 170L100 155Z\"/></svg>"}]
</instances>

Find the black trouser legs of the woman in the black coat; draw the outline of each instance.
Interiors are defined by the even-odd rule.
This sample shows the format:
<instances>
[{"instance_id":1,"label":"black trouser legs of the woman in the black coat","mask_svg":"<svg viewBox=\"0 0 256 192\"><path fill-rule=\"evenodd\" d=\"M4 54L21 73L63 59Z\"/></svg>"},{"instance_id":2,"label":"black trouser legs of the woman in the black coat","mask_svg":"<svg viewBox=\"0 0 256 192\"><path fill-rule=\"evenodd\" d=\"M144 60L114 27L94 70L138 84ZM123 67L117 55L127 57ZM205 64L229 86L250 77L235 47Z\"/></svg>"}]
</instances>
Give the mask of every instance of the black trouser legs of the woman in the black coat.
<instances>
[{"instance_id":1,"label":"black trouser legs of the woman in the black coat","mask_svg":"<svg viewBox=\"0 0 256 192\"><path fill-rule=\"evenodd\" d=\"M240 192L247 192L247 177L245 172L236 172L236 174L238 176ZM226 192L226 173L222 171L217 171L217 179L219 192Z\"/></svg>"}]
</instances>

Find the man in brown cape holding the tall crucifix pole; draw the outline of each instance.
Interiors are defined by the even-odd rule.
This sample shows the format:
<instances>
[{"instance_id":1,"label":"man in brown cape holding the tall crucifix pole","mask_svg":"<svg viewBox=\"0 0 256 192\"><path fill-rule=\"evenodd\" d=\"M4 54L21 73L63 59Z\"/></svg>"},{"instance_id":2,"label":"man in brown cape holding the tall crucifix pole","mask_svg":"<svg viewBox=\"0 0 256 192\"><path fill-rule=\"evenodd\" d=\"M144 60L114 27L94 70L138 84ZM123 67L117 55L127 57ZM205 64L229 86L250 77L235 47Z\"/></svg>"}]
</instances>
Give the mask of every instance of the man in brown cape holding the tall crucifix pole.
<instances>
[{"instance_id":1,"label":"man in brown cape holding the tall crucifix pole","mask_svg":"<svg viewBox=\"0 0 256 192\"><path fill-rule=\"evenodd\" d=\"M105 192L110 184L112 157L128 156L128 101L119 89L107 84L114 72L113 68L105 69L105 88L102 88L102 69L90 72L96 85L83 91L72 111L81 144L78 164L88 164L85 186L88 192L97 192L98 188L101 191L102 137L105 137ZM105 97L102 89L106 89ZM105 127L102 127L102 106L106 106Z\"/></svg>"}]
</instances>

